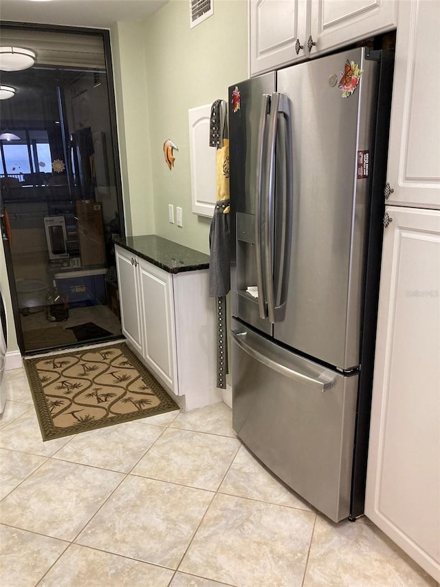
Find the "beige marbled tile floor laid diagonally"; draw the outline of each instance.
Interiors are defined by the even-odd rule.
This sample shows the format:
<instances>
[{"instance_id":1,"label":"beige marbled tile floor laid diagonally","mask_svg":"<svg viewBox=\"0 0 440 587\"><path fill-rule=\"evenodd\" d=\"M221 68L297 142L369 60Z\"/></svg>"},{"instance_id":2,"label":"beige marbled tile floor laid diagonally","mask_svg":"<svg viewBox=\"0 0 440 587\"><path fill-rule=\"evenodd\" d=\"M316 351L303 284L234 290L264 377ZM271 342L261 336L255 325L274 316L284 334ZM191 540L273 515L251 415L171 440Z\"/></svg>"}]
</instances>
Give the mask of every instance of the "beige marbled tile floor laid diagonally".
<instances>
[{"instance_id":1,"label":"beige marbled tile floor laid diagonally","mask_svg":"<svg viewBox=\"0 0 440 587\"><path fill-rule=\"evenodd\" d=\"M333 524L278 482L223 403L43 442L24 370L6 389L3 587L437 585L366 518Z\"/></svg>"}]
</instances>

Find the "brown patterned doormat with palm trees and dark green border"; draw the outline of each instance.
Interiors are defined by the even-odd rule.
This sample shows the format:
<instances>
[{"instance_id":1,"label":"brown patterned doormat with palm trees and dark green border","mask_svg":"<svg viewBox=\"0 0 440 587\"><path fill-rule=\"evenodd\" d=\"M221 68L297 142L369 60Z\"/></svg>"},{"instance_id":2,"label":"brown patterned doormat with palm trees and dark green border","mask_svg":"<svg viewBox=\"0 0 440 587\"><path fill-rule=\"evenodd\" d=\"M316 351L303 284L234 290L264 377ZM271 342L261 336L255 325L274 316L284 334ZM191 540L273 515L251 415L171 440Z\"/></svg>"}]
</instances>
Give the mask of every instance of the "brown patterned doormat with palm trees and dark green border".
<instances>
[{"instance_id":1,"label":"brown patterned doormat with palm trees and dark green border","mask_svg":"<svg viewBox=\"0 0 440 587\"><path fill-rule=\"evenodd\" d=\"M126 343L24 360L43 440L179 409Z\"/></svg>"}]
</instances>

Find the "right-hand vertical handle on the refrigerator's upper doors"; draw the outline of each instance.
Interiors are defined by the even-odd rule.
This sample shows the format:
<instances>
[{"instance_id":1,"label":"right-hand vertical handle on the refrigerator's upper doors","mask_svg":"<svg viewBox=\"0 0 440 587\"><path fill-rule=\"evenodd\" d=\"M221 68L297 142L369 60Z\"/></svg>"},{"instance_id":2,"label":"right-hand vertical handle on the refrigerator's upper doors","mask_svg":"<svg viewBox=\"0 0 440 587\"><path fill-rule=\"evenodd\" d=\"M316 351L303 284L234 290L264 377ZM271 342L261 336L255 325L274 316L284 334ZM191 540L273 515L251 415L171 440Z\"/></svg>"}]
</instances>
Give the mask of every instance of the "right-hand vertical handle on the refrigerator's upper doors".
<instances>
[{"instance_id":1,"label":"right-hand vertical handle on the refrigerator's upper doors","mask_svg":"<svg viewBox=\"0 0 440 587\"><path fill-rule=\"evenodd\" d=\"M283 114L285 117L289 117L290 106L287 96L274 92L271 98L270 104L270 118L268 123L268 134L267 134L267 151L266 151L266 170L265 175L265 213L263 219L264 228L264 256L265 256L265 272L264 272L264 284L265 293L267 298L267 316L269 317L270 323L276 322L276 306L275 306L275 292L274 292L274 208L275 208L275 175L276 175L276 160L275 160L275 148L276 148L276 134L278 129L278 114ZM286 141L289 142L289 135L286 135ZM289 153L290 145L285 145L287 153ZM287 179L286 186L289 185L289 169L286 168ZM287 197L287 194L286 194ZM287 222L287 218L284 219ZM283 226L281 233L285 233L287 224ZM285 248L285 247L284 247ZM284 255L286 255L284 251ZM282 274L285 273L285 259L281 262L280 271Z\"/></svg>"}]
</instances>

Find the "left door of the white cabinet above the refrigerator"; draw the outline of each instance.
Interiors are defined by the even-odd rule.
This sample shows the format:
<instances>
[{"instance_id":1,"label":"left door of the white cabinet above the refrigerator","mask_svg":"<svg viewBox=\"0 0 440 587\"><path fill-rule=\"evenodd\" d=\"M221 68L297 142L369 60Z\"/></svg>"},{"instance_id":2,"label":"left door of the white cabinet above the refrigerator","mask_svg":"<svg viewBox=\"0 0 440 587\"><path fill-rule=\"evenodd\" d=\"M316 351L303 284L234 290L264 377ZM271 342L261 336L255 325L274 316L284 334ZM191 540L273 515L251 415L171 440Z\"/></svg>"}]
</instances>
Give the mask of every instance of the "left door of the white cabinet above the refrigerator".
<instances>
[{"instance_id":1,"label":"left door of the white cabinet above the refrigerator","mask_svg":"<svg viewBox=\"0 0 440 587\"><path fill-rule=\"evenodd\" d=\"M307 0L250 0L250 74L254 76L308 56ZM303 45L296 53L296 42Z\"/></svg>"}]
</instances>

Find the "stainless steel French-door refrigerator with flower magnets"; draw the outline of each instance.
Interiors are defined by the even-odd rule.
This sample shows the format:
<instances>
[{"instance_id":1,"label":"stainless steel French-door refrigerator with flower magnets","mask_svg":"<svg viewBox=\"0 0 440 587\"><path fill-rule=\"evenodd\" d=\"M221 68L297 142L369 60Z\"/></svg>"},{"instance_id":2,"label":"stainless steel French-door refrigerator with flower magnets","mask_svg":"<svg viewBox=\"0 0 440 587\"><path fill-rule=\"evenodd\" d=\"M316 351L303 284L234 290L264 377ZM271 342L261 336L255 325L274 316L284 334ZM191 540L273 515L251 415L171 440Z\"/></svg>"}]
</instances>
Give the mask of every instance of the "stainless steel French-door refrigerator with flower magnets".
<instances>
[{"instance_id":1,"label":"stainless steel French-door refrigerator with flower magnets","mask_svg":"<svg viewBox=\"0 0 440 587\"><path fill-rule=\"evenodd\" d=\"M363 512L393 56L229 88L233 426L307 502Z\"/></svg>"}]
</instances>

